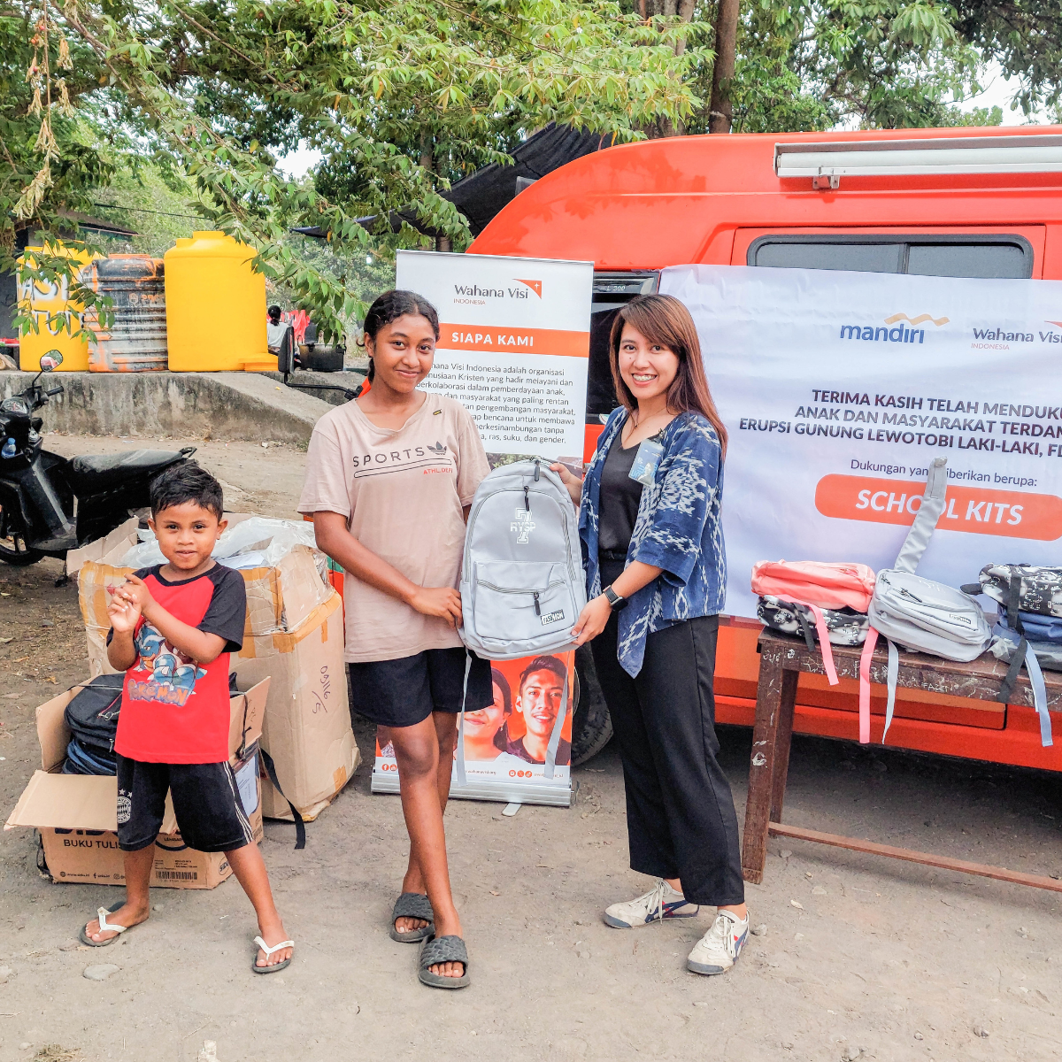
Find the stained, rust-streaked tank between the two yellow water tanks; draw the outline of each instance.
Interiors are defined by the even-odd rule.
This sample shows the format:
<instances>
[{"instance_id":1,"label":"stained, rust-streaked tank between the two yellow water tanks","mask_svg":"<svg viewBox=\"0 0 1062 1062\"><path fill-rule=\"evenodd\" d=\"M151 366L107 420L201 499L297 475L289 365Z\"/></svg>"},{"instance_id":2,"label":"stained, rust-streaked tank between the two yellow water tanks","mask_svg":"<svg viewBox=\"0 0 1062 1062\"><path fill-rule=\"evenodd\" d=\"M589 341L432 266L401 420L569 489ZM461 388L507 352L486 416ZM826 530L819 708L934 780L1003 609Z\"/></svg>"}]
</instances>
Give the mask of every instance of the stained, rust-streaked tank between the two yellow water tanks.
<instances>
[{"instance_id":1,"label":"stained, rust-streaked tank between the two yellow water tanks","mask_svg":"<svg viewBox=\"0 0 1062 1062\"><path fill-rule=\"evenodd\" d=\"M85 325L96 342L88 353L93 373L144 373L167 367L166 287L162 260L151 255L112 255L85 270L85 282L112 299L114 322L100 325L95 308Z\"/></svg>"}]
</instances>

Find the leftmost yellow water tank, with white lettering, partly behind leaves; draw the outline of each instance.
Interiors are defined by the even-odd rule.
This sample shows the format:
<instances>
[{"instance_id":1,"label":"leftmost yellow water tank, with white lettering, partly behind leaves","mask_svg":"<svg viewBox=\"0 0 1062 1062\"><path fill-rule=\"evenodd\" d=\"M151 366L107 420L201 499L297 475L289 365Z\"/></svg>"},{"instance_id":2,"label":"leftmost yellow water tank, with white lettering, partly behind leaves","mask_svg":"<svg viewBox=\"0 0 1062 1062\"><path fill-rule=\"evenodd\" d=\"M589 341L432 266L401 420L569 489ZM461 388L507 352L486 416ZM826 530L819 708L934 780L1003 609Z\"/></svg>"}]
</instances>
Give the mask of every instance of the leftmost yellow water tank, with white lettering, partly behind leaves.
<instances>
[{"instance_id":1,"label":"leftmost yellow water tank, with white lettering, partly behind leaves","mask_svg":"<svg viewBox=\"0 0 1062 1062\"><path fill-rule=\"evenodd\" d=\"M45 247L27 247L19 258L19 264L34 264L33 252L44 252ZM62 243L48 244L49 254L73 258L83 266L90 256L84 252L70 251ZM21 332L18 340L19 365L25 372L38 372L40 359L49 350L63 355L61 373L86 372L88 370L88 332L82 329L84 307L70 302L69 285L66 279L58 281L32 280L19 274L19 312L30 314L37 324L37 330ZM80 336L72 332L81 331Z\"/></svg>"}]
</instances>

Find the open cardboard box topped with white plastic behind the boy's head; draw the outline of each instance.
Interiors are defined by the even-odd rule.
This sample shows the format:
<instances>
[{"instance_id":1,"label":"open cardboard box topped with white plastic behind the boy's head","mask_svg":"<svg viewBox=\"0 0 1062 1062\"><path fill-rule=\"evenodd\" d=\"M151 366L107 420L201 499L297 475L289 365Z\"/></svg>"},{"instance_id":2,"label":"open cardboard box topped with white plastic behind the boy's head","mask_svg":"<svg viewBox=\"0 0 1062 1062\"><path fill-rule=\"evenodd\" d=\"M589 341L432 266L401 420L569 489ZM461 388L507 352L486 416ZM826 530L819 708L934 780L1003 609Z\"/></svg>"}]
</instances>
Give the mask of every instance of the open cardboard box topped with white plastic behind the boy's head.
<instances>
[{"instance_id":1,"label":"open cardboard box topped with white plastic behind the boy's head","mask_svg":"<svg viewBox=\"0 0 1062 1062\"><path fill-rule=\"evenodd\" d=\"M301 520L274 520L250 513L226 513L225 518L229 527L219 543L225 553L221 563L240 565L247 590L246 635L294 631L332 593L324 554L306 544L307 532ZM125 577L140 566L126 563L130 554L142 553L143 560L151 560L144 551L150 544L139 542L138 524L136 517L131 517L105 538L67 555L68 573L78 576L78 598L93 676L114 670L107 663L107 587L121 586ZM249 533L250 529L256 530ZM267 537L258 538L259 534ZM312 538L312 530L309 535ZM226 538L230 542L226 543ZM229 553L225 545L239 547L238 551ZM254 566L242 566L249 562Z\"/></svg>"}]
</instances>

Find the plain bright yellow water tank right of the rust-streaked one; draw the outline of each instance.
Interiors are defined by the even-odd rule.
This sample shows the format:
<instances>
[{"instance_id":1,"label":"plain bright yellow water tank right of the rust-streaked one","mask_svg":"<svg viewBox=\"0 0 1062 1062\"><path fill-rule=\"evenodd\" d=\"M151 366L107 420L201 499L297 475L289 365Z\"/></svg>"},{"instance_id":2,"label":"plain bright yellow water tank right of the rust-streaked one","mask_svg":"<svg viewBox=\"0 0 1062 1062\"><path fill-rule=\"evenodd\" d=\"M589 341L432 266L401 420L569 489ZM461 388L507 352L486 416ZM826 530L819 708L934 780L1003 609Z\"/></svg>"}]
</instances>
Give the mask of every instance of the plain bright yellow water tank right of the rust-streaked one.
<instances>
[{"instance_id":1,"label":"plain bright yellow water tank right of the rust-streaked one","mask_svg":"<svg viewBox=\"0 0 1062 1062\"><path fill-rule=\"evenodd\" d=\"M192 233L162 256L170 372L276 369L266 342L266 277L254 247L224 233Z\"/></svg>"}]
</instances>

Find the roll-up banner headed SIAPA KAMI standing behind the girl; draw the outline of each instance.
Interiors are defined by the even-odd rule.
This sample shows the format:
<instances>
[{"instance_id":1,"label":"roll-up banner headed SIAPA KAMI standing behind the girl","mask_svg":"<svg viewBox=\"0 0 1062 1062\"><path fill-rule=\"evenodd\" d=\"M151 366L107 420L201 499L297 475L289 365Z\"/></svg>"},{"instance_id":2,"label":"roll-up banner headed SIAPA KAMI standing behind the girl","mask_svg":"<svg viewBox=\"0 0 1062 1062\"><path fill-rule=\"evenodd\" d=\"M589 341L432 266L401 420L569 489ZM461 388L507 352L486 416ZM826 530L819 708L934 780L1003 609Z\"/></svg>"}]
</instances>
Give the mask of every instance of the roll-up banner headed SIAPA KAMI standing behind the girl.
<instances>
[{"instance_id":1,"label":"roll-up banner headed SIAPA KAMI standing behind the girl","mask_svg":"<svg viewBox=\"0 0 1062 1062\"><path fill-rule=\"evenodd\" d=\"M398 252L397 287L439 311L435 360L422 387L472 413L492 468L520 457L582 467L593 284L593 262ZM465 717L467 781L455 780L450 795L567 805L575 653L492 670L494 703ZM562 713L547 778L546 750ZM398 791L394 750L379 742L372 789Z\"/></svg>"}]
</instances>

